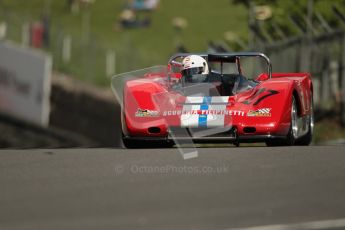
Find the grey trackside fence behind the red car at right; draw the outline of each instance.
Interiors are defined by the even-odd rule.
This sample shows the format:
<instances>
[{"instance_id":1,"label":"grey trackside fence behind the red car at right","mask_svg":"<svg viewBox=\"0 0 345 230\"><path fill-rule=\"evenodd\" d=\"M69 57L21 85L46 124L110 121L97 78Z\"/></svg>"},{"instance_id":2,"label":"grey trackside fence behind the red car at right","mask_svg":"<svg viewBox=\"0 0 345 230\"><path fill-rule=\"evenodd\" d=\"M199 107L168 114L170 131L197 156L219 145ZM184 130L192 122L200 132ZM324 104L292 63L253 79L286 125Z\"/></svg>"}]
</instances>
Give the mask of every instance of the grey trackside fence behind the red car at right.
<instances>
[{"instance_id":1,"label":"grey trackside fence behind the red car at right","mask_svg":"<svg viewBox=\"0 0 345 230\"><path fill-rule=\"evenodd\" d=\"M294 37L262 45L273 72L310 72L314 103L319 110L340 113L345 125L345 31L315 37Z\"/></svg>"}]
</instances>

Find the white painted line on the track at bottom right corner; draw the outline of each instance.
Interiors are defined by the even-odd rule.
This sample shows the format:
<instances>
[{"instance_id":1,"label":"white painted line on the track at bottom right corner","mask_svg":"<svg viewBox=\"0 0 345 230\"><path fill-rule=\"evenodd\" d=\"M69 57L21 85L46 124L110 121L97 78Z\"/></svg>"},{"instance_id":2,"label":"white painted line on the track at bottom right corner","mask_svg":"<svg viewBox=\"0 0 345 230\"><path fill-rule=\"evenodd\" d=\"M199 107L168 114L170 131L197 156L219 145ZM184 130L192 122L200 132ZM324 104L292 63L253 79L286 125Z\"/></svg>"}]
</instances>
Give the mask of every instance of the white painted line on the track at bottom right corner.
<instances>
[{"instance_id":1,"label":"white painted line on the track at bottom right corner","mask_svg":"<svg viewBox=\"0 0 345 230\"><path fill-rule=\"evenodd\" d=\"M226 230L315 230L345 228L345 219L311 221L296 224L266 225L248 228L229 228Z\"/></svg>"}]
</instances>

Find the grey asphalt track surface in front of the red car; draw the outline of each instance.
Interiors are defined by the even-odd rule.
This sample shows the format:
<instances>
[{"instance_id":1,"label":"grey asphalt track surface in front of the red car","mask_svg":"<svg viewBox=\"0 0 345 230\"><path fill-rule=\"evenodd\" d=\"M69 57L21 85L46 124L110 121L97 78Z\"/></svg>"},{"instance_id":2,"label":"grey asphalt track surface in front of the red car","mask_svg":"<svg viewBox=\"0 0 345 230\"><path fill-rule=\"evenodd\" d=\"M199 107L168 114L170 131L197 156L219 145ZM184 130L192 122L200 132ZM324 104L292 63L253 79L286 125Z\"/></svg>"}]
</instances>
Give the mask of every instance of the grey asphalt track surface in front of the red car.
<instances>
[{"instance_id":1,"label":"grey asphalt track surface in front of the red car","mask_svg":"<svg viewBox=\"0 0 345 230\"><path fill-rule=\"evenodd\" d=\"M345 218L344 146L198 151L1 150L0 229L299 229Z\"/></svg>"}]
</instances>

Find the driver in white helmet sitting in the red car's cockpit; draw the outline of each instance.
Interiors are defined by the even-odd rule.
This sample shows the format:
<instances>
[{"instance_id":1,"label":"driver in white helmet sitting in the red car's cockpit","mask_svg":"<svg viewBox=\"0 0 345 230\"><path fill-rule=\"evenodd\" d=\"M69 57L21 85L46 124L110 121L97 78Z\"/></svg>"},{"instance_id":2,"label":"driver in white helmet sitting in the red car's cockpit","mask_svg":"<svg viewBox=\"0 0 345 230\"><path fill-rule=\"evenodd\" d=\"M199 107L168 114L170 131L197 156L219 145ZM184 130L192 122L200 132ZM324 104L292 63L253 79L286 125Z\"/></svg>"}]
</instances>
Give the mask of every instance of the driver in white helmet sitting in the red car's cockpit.
<instances>
[{"instance_id":1,"label":"driver in white helmet sitting in the red car's cockpit","mask_svg":"<svg viewBox=\"0 0 345 230\"><path fill-rule=\"evenodd\" d=\"M199 55L189 55L182 61L182 82L204 82L209 74L208 65L204 58Z\"/></svg>"}]
</instances>

